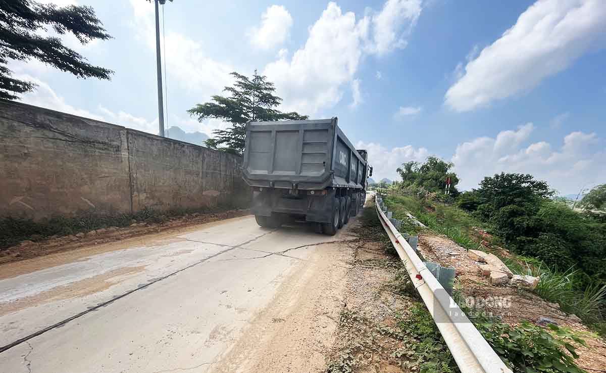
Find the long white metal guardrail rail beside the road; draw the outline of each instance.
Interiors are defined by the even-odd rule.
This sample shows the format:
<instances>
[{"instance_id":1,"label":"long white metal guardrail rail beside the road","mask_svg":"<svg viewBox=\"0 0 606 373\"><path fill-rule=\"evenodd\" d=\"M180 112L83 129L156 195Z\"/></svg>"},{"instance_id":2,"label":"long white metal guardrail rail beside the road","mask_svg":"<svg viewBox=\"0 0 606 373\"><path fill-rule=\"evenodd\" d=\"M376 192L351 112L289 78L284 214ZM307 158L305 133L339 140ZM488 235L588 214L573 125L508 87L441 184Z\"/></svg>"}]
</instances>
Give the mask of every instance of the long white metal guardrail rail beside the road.
<instances>
[{"instance_id":1,"label":"long white metal guardrail rail beside the road","mask_svg":"<svg viewBox=\"0 0 606 373\"><path fill-rule=\"evenodd\" d=\"M377 215L462 373L512 373L379 206Z\"/></svg>"}]
</instances>

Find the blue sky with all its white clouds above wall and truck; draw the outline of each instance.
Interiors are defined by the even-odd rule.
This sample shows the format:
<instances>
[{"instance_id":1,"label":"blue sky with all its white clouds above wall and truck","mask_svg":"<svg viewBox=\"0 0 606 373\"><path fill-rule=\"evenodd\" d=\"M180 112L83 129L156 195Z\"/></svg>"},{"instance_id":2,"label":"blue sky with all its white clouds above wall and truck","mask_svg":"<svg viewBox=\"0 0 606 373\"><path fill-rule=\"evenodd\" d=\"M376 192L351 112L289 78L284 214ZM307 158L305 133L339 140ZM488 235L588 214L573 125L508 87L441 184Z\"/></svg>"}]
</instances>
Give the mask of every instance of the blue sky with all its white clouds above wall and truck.
<instances>
[{"instance_id":1,"label":"blue sky with all its white clouds above wall and truck","mask_svg":"<svg viewBox=\"0 0 606 373\"><path fill-rule=\"evenodd\" d=\"M153 4L92 5L112 40L65 42L115 70L76 79L15 63L22 101L157 133ZM561 193L606 182L606 1L223 1L165 5L168 126L211 134L185 110L258 69L284 110L338 116L375 179L438 155L462 189L524 172Z\"/></svg>"}]
</instances>

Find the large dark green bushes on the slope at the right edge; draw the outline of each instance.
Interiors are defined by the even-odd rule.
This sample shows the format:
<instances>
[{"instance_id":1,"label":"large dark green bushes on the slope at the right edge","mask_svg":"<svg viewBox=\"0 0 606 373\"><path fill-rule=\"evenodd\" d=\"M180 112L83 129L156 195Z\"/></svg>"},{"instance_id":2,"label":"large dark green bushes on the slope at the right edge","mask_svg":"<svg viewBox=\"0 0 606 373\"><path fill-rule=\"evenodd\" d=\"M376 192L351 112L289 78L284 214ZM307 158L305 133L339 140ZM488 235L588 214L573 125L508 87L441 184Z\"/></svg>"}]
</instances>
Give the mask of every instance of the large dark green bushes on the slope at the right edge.
<instances>
[{"instance_id":1,"label":"large dark green bushes on the slope at the right edge","mask_svg":"<svg viewBox=\"0 0 606 373\"><path fill-rule=\"evenodd\" d=\"M553 191L531 175L486 177L458 204L485 223L517 252L552 268L578 268L585 285L606 280L606 224L551 200Z\"/></svg>"}]
</instances>

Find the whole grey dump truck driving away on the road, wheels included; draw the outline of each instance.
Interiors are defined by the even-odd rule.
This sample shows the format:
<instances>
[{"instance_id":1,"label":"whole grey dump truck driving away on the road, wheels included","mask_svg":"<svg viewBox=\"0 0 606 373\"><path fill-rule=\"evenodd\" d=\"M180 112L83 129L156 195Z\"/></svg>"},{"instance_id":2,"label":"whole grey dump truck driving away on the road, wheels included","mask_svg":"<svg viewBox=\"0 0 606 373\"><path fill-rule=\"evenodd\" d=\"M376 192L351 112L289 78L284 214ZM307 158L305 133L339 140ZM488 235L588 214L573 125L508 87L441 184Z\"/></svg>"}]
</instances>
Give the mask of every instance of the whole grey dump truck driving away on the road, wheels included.
<instances>
[{"instance_id":1,"label":"whole grey dump truck driving away on the road, wheels included","mask_svg":"<svg viewBox=\"0 0 606 373\"><path fill-rule=\"evenodd\" d=\"M356 150L337 122L247 123L242 177L253 190L259 226L304 220L335 235L358 215L372 167L366 150Z\"/></svg>"}]
</instances>

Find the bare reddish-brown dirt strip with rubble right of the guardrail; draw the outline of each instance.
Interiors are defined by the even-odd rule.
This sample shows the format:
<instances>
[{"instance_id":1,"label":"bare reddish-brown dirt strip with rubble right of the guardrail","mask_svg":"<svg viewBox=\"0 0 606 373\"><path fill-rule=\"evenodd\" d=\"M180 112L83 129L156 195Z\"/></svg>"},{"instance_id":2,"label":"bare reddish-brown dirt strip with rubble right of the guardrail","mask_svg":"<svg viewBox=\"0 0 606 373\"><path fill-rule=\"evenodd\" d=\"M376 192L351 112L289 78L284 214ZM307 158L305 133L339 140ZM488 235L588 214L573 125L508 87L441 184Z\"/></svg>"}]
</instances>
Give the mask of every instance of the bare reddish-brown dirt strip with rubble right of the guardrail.
<instances>
[{"instance_id":1,"label":"bare reddish-brown dirt strip with rubble right of the guardrail","mask_svg":"<svg viewBox=\"0 0 606 373\"><path fill-rule=\"evenodd\" d=\"M549 303L530 291L511 286L493 286L483 277L478 265L467 256L464 247L450 238L440 235L419 234L419 251L425 260L452 266L456 269L455 287L465 297L471 297L477 304L482 303L482 311L496 316L508 324L519 324L523 320L538 321L539 317L551 318L559 325L579 331L589 330L578 318L560 311L558 304ZM604 372L606 369L606 343L601 338L584 338L587 348L578 346L579 358L576 363L588 371Z\"/></svg>"}]
</instances>

